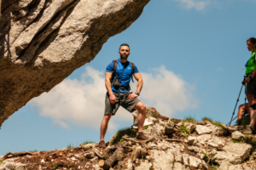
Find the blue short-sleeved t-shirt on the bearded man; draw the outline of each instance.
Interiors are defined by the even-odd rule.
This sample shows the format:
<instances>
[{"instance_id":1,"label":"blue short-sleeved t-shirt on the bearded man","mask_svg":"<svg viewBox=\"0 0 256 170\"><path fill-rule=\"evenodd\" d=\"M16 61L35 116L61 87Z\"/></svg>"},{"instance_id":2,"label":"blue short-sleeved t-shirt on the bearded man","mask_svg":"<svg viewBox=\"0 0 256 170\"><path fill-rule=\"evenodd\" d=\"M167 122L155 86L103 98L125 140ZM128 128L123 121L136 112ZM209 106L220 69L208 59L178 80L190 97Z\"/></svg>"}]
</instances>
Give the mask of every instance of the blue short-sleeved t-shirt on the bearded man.
<instances>
[{"instance_id":1,"label":"blue short-sleeved t-shirt on the bearded man","mask_svg":"<svg viewBox=\"0 0 256 170\"><path fill-rule=\"evenodd\" d=\"M122 80L120 81L120 86L125 87L125 88L129 88L129 84L131 81L131 72L132 72L132 68L131 68L131 63L129 63L128 66L126 66L128 64L128 61L126 63L121 63L119 59L117 59L117 65L116 65L116 71L118 72L117 75L117 79L120 79L120 77L122 76L122 73L125 69L124 75L122 77ZM126 68L125 68L126 66ZM109 63L109 65L107 66L106 72L112 72L113 71L113 61L111 63ZM137 66L134 65L134 74L137 74L139 71L137 70ZM113 73L113 79L116 77L115 73ZM113 88L112 87L112 91L113 93L118 93L118 89L117 88ZM129 90L126 90L126 92L129 92ZM120 93L124 94L125 90L120 90Z\"/></svg>"}]
</instances>

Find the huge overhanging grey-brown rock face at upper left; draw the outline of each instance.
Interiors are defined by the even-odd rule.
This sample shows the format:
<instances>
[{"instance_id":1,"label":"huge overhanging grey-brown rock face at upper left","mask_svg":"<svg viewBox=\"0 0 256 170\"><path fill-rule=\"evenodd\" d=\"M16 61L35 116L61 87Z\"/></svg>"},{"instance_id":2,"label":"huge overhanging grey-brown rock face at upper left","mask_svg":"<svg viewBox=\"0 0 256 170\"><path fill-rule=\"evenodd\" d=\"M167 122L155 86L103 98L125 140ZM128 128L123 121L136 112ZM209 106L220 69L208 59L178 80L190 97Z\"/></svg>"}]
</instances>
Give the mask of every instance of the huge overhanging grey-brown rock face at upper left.
<instances>
[{"instance_id":1,"label":"huge overhanging grey-brown rock face at upper left","mask_svg":"<svg viewBox=\"0 0 256 170\"><path fill-rule=\"evenodd\" d=\"M94 59L149 0L9 0L0 18L0 127Z\"/></svg>"}]
</instances>

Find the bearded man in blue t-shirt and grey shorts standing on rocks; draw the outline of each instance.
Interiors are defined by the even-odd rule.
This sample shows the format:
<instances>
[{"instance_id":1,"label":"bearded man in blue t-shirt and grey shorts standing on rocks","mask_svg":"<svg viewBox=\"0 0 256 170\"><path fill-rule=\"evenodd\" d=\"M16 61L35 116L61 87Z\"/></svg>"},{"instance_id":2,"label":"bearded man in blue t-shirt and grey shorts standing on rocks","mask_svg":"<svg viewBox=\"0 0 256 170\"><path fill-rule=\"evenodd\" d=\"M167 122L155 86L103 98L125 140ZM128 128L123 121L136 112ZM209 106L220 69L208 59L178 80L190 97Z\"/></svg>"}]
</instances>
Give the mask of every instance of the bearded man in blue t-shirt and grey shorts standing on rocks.
<instances>
[{"instance_id":1,"label":"bearded man in blue t-shirt and grey shorts standing on rocks","mask_svg":"<svg viewBox=\"0 0 256 170\"><path fill-rule=\"evenodd\" d=\"M148 139L143 135L143 124L146 116L146 105L144 105L137 97L140 95L143 88L143 78L137 66L130 63L127 58L130 54L130 47L128 44L123 43L119 48L120 59L113 60L108 66L105 75L105 85L108 90L105 99L105 113L101 124L101 140L99 147L106 147L104 136L107 132L108 122L111 116L115 115L119 106L125 110L133 112L139 111L138 131L136 139ZM130 81L132 75L137 80L137 91L135 94L130 92Z\"/></svg>"}]
</instances>

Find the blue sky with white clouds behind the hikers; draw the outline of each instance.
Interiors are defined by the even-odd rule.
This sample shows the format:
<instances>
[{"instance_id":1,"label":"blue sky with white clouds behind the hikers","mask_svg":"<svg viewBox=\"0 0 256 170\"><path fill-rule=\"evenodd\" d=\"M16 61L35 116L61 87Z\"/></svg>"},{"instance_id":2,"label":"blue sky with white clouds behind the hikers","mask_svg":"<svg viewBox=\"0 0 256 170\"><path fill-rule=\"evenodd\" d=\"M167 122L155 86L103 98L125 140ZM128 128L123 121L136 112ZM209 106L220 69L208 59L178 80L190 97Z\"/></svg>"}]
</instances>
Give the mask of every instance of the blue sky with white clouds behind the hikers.
<instances>
[{"instance_id":1,"label":"blue sky with white clouds behind the hikers","mask_svg":"<svg viewBox=\"0 0 256 170\"><path fill-rule=\"evenodd\" d=\"M142 73L140 99L146 105L165 116L229 122L250 57L246 40L256 37L255 5L255 0L151 0L139 19L109 38L94 60L3 122L0 155L98 142L104 71L119 58L123 42L130 44L129 60ZM244 94L240 99L239 104ZM131 124L131 114L120 110L105 139Z\"/></svg>"}]
</instances>

